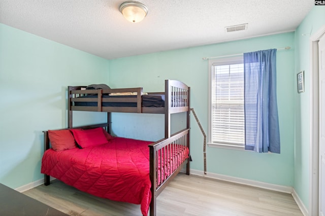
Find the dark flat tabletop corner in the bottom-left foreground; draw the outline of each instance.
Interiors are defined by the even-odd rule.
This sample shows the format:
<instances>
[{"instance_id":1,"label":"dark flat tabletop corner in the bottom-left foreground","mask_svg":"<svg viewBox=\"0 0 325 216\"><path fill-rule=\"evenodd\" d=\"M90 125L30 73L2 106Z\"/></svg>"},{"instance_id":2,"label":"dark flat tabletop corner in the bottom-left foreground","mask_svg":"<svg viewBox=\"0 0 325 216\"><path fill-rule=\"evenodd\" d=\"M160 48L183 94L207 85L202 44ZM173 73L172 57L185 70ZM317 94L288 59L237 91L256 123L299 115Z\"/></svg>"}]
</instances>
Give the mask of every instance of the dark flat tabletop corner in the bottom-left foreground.
<instances>
[{"instance_id":1,"label":"dark flat tabletop corner in the bottom-left foreground","mask_svg":"<svg viewBox=\"0 0 325 216\"><path fill-rule=\"evenodd\" d=\"M40 201L32 199L18 191L0 184L0 215L2 216L41 216L41 215L65 215Z\"/></svg>"}]
</instances>

